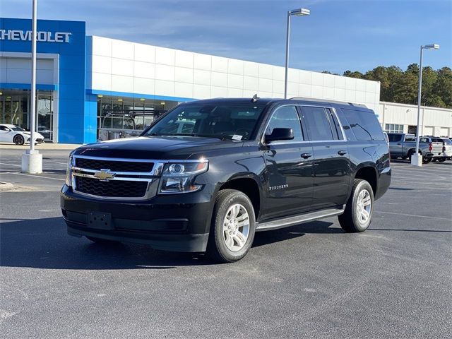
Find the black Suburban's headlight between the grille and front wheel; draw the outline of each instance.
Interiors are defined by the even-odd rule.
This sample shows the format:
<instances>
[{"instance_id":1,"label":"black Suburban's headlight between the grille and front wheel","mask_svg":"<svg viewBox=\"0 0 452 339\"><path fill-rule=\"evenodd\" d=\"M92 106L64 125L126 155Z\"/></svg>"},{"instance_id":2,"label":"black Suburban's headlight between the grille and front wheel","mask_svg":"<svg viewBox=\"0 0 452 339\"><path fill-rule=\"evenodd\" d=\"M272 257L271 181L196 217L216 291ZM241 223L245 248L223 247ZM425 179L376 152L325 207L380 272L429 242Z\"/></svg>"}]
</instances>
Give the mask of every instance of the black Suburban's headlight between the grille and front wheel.
<instances>
[{"instance_id":1,"label":"black Suburban's headlight between the grille and front wheel","mask_svg":"<svg viewBox=\"0 0 452 339\"><path fill-rule=\"evenodd\" d=\"M196 175L207 172L208 160L194 162L169 162L165 164L160 179L160 194L189 193L201 189L194 184Z\"/></svg>"}]
</instances>

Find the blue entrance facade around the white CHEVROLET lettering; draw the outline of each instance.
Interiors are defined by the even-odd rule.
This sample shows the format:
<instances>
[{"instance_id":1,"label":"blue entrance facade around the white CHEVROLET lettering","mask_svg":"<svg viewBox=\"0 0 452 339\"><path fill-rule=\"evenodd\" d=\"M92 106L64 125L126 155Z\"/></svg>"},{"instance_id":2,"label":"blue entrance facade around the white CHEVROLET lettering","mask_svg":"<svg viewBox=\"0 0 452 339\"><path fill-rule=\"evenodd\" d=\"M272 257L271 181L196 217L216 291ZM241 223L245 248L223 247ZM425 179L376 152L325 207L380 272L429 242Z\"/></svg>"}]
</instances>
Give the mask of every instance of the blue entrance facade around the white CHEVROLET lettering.
<instances>
[{"instance_id":1,"label":"blue entrance facade around the white CHEVROLET lettering","mask_svg":"<svg viewBox=\"0 0 452 339\"><path fill-rule=\"evenodd\" d=\"M0 18L0 30L31 30L31 20ZM38 32L70 32L69 42L37 42L38 53L59 54L59 142L87 143L93 139L90 102L85 112L85 23L81 21L37 20ZM1 39L1 37L0 37ZM0 40L1 52L31 52L31 41ZM39 88L38 88L39 89ZM95 122L95 118L94 118ZM85 131L85 124L89 126ZM95 126L95 125L94 125ZM95 127L94 127L95 129ZM95 133L94 133L95 136Z\"/></svg>"}]
</instances>

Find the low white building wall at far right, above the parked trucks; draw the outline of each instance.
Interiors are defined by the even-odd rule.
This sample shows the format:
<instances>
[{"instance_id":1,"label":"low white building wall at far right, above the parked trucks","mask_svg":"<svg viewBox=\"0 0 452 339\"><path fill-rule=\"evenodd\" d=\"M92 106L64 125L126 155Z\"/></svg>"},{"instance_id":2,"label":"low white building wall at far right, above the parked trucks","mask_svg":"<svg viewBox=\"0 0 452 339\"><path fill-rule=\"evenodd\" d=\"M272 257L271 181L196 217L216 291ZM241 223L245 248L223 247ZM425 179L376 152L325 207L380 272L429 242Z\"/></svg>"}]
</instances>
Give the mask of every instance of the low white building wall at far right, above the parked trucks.
<instances>
[{"instance_id":1,"label":"low white building wall at far right, above the parked trucks","mask_svg":"<svg viewBox=\"0 0 452 339\"><path fill-rule=\"evenodd\" d=\"M402 124L403 131L408 133L408 126L417 125L417 106L380 102L379 120L386 128L386 124ZM421 134L452 137L452 109L438 107L421 107Z\"/></svg>"}]
</instances>

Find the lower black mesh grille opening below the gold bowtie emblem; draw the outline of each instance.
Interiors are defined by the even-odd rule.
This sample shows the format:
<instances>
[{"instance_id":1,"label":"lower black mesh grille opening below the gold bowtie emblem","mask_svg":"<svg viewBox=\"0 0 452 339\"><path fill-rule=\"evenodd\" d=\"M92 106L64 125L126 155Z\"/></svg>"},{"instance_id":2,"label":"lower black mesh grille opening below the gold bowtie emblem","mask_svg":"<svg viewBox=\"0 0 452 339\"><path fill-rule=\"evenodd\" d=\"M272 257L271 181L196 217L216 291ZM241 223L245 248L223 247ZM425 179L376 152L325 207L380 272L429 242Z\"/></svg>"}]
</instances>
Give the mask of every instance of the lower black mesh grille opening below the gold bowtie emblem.
<instances>
[{"instance_id":1,"label":"lower black mesh grille opening below the gold bowtie emblem","mask_svg":"<svg viewBox=\"0 0 452 339\"><path fill-rule=\"evenodd\" d=\"M76 177L76 190L93 196L141 198L146 194L148 182L111 180Z\"/></svg>"}]
</instances>

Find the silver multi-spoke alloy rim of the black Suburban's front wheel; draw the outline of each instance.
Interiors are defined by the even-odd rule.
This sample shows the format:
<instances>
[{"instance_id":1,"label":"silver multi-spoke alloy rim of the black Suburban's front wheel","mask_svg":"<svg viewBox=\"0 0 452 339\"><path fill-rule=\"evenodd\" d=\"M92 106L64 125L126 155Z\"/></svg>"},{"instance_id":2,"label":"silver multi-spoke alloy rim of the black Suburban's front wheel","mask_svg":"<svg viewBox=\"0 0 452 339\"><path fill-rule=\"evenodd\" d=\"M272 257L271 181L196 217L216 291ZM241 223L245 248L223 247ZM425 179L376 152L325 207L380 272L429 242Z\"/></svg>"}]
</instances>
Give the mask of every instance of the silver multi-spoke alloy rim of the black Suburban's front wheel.
<instances>
[{"instance_id":1,"label":"silver multi-spoke alloy rim of the black Suburban's front wheel","mask_svg":"<svg viewBox=\"0 0 452 339\"><path fill-rule=\"evenodd\" d=\"M239 203L232 205L223 220L223 239L227 249L240 251L249 235L249 215L246 208Z\"/></svg>"}]
</instances>

